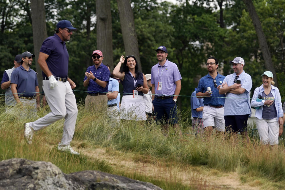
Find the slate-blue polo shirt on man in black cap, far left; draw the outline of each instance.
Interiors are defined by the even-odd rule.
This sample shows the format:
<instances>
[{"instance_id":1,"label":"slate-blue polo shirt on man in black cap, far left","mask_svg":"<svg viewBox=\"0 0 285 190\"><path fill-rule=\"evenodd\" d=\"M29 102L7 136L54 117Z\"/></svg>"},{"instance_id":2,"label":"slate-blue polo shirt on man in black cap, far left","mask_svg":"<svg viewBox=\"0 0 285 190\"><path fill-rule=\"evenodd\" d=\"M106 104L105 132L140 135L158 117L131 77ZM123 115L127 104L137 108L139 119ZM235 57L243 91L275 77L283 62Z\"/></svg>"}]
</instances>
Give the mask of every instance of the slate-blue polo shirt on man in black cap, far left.
<instances>
[{"instance_id":1,"label":"slate-blue polo shirt on man in black cap, far left","mask_svg":"<svg viewBox=\"0 0 285 190\"><path fill-rule=\"evenodd\" d=\"M35 87L38 86L37 73L29 68L27 71L22 65L17 67L11 75L11 83L17 85L16 89L19 97L34 97L35 96Z\"/></svg>"}]
</instances>

